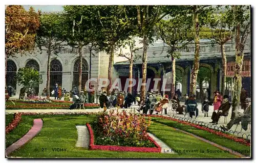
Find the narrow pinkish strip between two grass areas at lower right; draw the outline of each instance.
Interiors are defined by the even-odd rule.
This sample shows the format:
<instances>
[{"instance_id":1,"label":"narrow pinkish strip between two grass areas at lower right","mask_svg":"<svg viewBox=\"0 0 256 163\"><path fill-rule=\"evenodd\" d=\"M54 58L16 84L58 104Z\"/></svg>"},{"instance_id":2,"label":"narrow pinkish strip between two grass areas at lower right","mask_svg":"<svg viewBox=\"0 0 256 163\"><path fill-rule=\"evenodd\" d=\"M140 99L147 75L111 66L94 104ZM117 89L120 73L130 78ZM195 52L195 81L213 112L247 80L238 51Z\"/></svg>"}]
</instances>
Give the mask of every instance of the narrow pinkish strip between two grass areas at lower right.
<instances>
[{"instance_id":1,"label":"narrow pinkish strip between two grass areas at lower right","mask_svg":"<svg viewBox=\"0 0 256 163\"><path fill-rule=\"evenodd\" d=\"M170 127L170 126L169 126L169 127ZM181 130L181 129L174 128L174 127L171 127L171 128L173 128L173 129L175 129L175 130L178 130L178 131L181 131L181 132L183 132L183 133L186 133L186 134L188 134L188 135L191 135L192 137L195 137L195 138L197 138L197 139L199 139L199 140L201 140L201 141L204 141L204 142L206 142L206 143L209 143L209 144L211 144L211 145L213 145L213 146L215 146L215 147L217 147L217 148L220 148L220 149L222 149L222 150L229 151L230 154L236 155L236 156L238 156L238 157L248 157L248 156L245 156L245 155L243 155L243 154L241 154L241 153L235 152L235 151L233 151L232 149L229 149L229 148L227 148L227 147L221 146L221 145L219 145L219 144L216 144L216 143L214 143L214 142L211 142L211 141L208 141L208 140L206 140L206 139L204 139L204 138L201 138L201 137L199 137L198 135L195 135L195 134L193 134L193 133L189 133L189 132L186 132L186 131L183 131L183 130Z\"/></svg>"}]
</instances>

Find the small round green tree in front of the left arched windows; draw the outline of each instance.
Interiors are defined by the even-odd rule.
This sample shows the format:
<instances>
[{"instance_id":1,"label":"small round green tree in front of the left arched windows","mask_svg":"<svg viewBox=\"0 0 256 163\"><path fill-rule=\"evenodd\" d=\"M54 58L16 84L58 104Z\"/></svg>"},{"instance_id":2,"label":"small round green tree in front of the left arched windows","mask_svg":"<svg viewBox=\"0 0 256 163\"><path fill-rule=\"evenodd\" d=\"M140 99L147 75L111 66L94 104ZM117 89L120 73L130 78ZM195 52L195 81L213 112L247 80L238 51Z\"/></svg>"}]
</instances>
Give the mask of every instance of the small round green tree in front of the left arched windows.
<instances>
[{"instance_id":1,"label":"small round green tree in front of the left arched windows","mask_svg":"<svg viewBox=\"0 0 256 163\"><path fill-rule=\"evenodd\" d=\"M15 80L19 86L33 88L42 84L42 75L33 68L23 67L18 69Z\"/></svg>"}]
</instances>

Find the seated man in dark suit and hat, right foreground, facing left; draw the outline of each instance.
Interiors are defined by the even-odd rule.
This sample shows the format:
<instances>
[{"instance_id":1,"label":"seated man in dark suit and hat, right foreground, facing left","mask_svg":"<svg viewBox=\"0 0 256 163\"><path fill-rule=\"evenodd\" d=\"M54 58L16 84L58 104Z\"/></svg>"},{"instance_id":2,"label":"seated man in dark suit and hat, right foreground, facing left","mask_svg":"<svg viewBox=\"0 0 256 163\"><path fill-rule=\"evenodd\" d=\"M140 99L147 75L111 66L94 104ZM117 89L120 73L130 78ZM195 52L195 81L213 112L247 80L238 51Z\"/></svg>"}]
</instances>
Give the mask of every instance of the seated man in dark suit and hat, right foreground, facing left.
<instances>
[{"instance_id":1,"label":"seated man in dark suit and hat, right foreground, facing left","mask_svg":"<svg viewBox=\"0 0 256 163\"><path fill-rule=\"evenodd\" d=\"M228 96L224 95L223 103L219 107L219 110L216 110L212 113L211 119L214 124L218 124L220 116L227 116L231 103L228 101Z\"/></svg>"}]
</instances>

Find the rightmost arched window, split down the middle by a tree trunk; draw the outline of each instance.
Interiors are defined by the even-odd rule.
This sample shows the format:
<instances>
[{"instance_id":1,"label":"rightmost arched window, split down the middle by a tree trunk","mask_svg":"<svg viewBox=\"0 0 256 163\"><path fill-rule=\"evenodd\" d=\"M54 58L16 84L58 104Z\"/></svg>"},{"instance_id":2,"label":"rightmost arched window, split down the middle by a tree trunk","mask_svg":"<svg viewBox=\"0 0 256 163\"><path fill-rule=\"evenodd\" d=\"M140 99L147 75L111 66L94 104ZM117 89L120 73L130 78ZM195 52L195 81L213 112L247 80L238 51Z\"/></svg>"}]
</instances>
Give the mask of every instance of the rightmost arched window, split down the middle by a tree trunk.
<instances>
[{"instance_id":1,"label":"rightmost arched window, split down the middle by a tree trunk","mask_svg":"<svg viewBox=\"0 0 256 163\"><path fill-rule=\"evenodd\" d=\"M79 69L79 60L76 60L73 69L73 85L78 86L78 69ZM88 80L88 70L89 66L86 60L82 59L82 90L86 86Z\"/></svg>"}]
</instances>

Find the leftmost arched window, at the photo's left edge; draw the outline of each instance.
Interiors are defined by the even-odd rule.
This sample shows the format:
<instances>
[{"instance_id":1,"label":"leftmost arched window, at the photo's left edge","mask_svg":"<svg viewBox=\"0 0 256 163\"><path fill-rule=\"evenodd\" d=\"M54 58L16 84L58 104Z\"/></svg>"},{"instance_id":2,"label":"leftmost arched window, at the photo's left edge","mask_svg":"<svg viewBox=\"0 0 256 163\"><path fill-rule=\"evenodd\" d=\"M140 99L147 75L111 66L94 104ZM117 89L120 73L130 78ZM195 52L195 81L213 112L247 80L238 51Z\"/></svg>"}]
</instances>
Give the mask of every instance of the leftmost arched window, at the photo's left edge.
<instances>
[{"instance_id":1,"label":"leftmost arched window, at the photo's left edge","mask_svg":"<svg viewBox=\"0 0 256 163\"><path fill-rule=\"evenodd\" d=\"M6 86L12 86L16 90L16 82L14 78L16 77L17 66L12 60L7 61L6 70Z\"/></svg>"}]
</instances>

